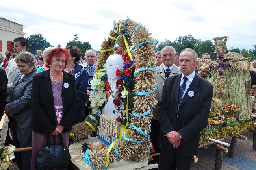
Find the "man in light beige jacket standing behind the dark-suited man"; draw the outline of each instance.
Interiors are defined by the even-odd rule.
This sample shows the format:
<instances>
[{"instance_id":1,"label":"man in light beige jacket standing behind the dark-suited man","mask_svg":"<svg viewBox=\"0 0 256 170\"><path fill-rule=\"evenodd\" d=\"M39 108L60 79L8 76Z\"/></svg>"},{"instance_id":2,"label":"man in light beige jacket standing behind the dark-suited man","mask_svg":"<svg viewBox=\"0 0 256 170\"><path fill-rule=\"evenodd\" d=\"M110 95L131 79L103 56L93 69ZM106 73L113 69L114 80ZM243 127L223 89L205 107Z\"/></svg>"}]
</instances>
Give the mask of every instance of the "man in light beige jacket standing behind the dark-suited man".
<instances>
[{"instance_id":1,"label":"man in light beige jacket standing behind the dark-suited man","mask_svg":"<svg viewBox=\"0 0 256 170\"><path fill-rule=\"evenodd\" d=\"M177 74L180 74L180 68L176 67L176 65L173 63L175 59L175 49L172 46L165 46L161 50L161 59L163 63L158 66L156 69L156 97L154 98L154 104L155 104L155 109L154 109L154 117L151 120L151 141L154 146L155 152L158 153L160 152L159 148L159 142L158 142L158 136L159 136L159 131L160 131L160 125L159 125L159 115L158 115L158 110L157 110L157 105L161 101L161 96L162 96L162 90L163 90L163 84L165 82L165 79L168 78L169 76L174 76ZM154 162L153 163L158 163L158 157L154 157Z\"/></svg>"}]
</instances>

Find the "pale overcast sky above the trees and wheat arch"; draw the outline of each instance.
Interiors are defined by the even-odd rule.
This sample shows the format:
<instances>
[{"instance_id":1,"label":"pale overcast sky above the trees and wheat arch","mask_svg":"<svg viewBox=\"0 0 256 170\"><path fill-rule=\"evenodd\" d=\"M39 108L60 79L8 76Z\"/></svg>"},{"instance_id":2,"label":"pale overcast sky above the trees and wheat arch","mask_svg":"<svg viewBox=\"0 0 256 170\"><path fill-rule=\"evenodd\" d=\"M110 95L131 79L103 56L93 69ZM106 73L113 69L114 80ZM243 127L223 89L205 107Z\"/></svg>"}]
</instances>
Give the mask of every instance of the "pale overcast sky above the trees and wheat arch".
<instances>
[{"instance_id":1,"label":"pale overcast sky above the trees and wheat arch","mask_svg":"<svg viewBox=\"0 0 256 170\"><path fill-rule=\"evenodd\" d=\"M43 34L53 46L65 46L78 34L79 41L100 50L113 20L128 16L160 42L228 35L228 48L248 50L256 44L255 6L254 0L0 0L0 17L24 25L25 37Z\"/></svg>"}]
</instances>

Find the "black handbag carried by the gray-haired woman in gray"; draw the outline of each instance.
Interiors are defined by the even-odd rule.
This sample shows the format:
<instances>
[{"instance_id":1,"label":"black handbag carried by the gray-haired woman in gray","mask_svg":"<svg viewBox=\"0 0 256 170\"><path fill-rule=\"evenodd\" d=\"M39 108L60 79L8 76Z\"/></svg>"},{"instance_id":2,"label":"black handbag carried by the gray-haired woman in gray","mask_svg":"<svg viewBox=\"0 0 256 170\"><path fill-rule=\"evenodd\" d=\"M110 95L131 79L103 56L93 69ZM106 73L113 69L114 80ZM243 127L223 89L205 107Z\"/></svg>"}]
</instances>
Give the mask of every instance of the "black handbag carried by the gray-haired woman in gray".
<instances>
[{"instance_id":1,"label":"black handbag carried by the gray-haired woman in gray","mask_svg":"<svg viewBox=\"0 0 256 170\"><path fill-rule=\"evenodd\" d=\"M13 139L11 139L11 133L10 133L11 126L12 126L12 132L13 132L12 133ZM9 144L15 146L16 148L19 148L19 142L17 141L17 137L16 137L14 120L11 117L9 117L7 136L6 136L6 141L4 142L4 146L9 146ZM19 164L22 162L21 161L20 153L19 152L15 152L14 156L15 156L15 158L12 161L14 163L16 163L17 166L19 167Z\"/></svg>"}]
</instances>

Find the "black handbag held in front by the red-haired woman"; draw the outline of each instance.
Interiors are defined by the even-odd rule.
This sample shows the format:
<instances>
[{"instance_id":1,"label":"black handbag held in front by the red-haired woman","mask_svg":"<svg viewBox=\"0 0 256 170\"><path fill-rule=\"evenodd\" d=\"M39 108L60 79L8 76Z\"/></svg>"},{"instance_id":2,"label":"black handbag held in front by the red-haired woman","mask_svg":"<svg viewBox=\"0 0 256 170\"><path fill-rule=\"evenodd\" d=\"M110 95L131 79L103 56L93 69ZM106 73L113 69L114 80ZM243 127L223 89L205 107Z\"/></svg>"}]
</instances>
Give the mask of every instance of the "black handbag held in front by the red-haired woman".
<instances>
[{"instance_id":1,"label":"black handbag held in front by the red-haired woman","mask_svg":"<svg viewBox=\"0 0 256 170\"><path fill-rule=\"evenodd\" d=\"M61 144L52 144L47 137L47 144L37 153L37 170L63 169L69 166L69 149L63 145L62 135L59 134Z\"/></svg>"}]
</instances>

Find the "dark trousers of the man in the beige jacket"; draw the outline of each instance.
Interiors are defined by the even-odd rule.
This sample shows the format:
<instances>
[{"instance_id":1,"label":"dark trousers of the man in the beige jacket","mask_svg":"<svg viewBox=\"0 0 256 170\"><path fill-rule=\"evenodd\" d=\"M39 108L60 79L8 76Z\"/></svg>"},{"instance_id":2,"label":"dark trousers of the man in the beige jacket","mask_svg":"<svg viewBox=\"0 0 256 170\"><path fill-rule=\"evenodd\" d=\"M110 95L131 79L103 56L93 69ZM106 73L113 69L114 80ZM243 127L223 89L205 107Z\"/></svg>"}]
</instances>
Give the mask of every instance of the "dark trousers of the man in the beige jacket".
<instances>
[{"instance_id":1,"label":"dark trousers of the man in the beige jacket","mask_svg":"<svg viewBox=\"0 0 256 170\"><path fill-rule=\"evenodd\" d=\"M158 142L158 136L159 136L159 131L160 131L160 124L159 120L151 120L151 133L150 133L150 140L152 142L152 145L154 147L155 153L160 152L159 148L159 142ZM152 153L154 154L154 153ZM159 156L154 156L153 161L150 161L149 164L158 164L159 162Z\"/></svg>"}]
</instances>

